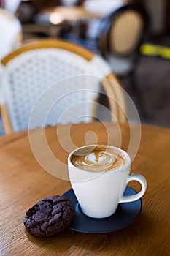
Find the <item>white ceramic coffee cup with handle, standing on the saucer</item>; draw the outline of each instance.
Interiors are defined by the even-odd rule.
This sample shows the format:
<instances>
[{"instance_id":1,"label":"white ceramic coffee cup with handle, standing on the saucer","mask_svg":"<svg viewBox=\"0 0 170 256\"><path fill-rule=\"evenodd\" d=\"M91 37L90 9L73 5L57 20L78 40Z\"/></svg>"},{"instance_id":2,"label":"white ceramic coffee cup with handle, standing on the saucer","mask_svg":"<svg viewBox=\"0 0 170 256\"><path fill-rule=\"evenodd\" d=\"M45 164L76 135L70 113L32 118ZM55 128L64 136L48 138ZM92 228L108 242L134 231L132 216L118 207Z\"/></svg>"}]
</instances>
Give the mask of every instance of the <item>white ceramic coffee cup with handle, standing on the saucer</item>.
<instances>
[{"instance_id":1,"label":"white ceramic coffee cup with handle, standing on the saucer","mask_svg":"<svg viewBox=\"0 0 170 256\"><path fill-rule=\"evenodd\" d=\"M96 168L96 160L94 165L93 163L90 165L90 170L82 169L79 165L73 164L74 156L86 155L93 151L94 148L97 148L97 150L98 148L106 148L111 152L109 153L111 157L112 154L120 155L120 158L123 158L123 165L118 167L112 167L114 166L112 165L109 167L109 170L104 170L102 157L101 160L98 160L97 170L95 171L93 171L93 168ZM96 149L94 152L96 152ZM82 212L88 217L109 217L115 213L119 203L138 200L147 189L147 181L144 176L141 174L129 174L131 170L131 158L129 155L122 149L114 146L88 145L77 148L69 154L68 168L74 194L77 197ZM141 191L135 195L123 195L129 181L139 181L142 185Z\"/></svg>"}]
</instances>

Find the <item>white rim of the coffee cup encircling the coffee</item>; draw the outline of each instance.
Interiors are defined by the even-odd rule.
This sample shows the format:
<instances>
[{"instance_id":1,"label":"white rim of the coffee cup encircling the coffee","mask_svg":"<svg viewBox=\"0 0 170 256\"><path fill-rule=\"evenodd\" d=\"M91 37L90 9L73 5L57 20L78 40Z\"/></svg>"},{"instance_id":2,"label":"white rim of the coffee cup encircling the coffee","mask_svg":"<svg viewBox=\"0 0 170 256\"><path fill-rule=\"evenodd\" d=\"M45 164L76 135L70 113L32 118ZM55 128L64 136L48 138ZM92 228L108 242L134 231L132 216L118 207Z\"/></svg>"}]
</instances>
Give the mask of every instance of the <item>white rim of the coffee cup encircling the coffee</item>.
<instances>
[{"instance_id":1,"label":"white rim of the coffee cup encircling the coffee","mask_svg":"<svg viewBox=\"0 0 170 256\"><path fill-rule=\"evenodd\" d=\"M121 152L125 155L125 158L127 159L127 163L126 163L123 167L117 168L116 170L109 170L109 172L107 172L107 171L101 171L101 172L98 172L98 174L105 173L105 174L108 174L108 175L109 175L109 174L111 174L111 173L117 173L117 172L120 172L120 171L127 170L127 168L131 165L131 157L130 157L129 154L128 154L127 152L125 152L123 149L117 148L116 146L112 146L112 145L92 144L92 145L81 146L81 147L78 147L78 148L74 149L74 151L72 151L72 152L69 154L69 157L68 157L68 164L69 164L69 166L71 166L71 167L76 167L77 169L79 169L79 170L82 171L82 172L87 172L87 170L80 169L79 167L73 165L72 160L71 160L71 157L72 157L73 154L75 154L77 151L80 151L80 150L83 149L83 148L94 148L94 147L96 147L96 146L107 146L108 148L115 148L117 151L121 151ZM88 173L94 173L94 172L88 170Z\"/></svg>"}]
</instances>

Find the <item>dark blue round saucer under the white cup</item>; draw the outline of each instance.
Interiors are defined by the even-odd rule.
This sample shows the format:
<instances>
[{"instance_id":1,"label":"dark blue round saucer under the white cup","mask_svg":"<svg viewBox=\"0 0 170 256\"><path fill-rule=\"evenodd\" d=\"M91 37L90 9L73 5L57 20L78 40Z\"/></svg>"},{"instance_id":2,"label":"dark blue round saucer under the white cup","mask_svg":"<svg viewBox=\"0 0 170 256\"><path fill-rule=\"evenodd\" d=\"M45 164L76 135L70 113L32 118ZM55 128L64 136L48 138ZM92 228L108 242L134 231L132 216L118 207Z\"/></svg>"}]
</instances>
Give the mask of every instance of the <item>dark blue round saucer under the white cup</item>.
<instances>
[{"instance_id":1,"label":"dark blue round saucer under the white cup","mask_svg":"<svg viewBox=\"0 0 170 256\"><path fill-rule=\"evenodd\" d=\"M124 195L134 194L136 194L134 189L126 187ZM74 221L69 225L69 228L82 233L107 233L120 230L134 222L142 210L142 200L139 199L131 203L120 203L115 214L110 217L95 219L82 213L72 189L69 189L63 195L72 201L75 208Z\"/></svg>"}]
</instances>

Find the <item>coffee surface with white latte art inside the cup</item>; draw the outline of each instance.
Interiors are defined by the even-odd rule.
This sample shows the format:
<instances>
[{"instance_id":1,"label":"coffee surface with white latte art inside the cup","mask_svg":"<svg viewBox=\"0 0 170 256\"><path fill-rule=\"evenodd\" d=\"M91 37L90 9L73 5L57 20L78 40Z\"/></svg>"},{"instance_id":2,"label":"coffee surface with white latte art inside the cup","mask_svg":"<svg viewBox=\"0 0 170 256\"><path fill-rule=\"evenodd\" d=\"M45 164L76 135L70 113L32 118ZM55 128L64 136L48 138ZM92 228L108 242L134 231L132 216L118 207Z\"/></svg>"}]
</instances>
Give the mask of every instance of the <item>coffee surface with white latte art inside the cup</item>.
<instances>
[{"instance_id":1,"label":"coffee surface with white latte art inside the cup","mask_svg":"<svg viewBox=\"0 0 170 256\"><path fill-rule=\"evenodd\" d=\"M85 148L72 155L72 164L90 172L117 170L125 165L125 156L121 151L107 146Z\"/></svg>"}]
</instances>

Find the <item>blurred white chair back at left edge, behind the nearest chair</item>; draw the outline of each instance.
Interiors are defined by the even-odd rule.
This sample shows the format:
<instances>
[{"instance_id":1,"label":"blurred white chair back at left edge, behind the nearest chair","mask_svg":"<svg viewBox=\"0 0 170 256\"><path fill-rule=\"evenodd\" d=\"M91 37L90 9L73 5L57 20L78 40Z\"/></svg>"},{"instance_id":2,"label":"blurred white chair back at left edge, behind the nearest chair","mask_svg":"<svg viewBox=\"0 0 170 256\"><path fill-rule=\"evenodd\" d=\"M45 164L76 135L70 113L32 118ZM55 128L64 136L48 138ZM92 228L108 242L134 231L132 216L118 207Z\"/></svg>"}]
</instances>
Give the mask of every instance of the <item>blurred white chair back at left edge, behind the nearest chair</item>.
<instances>
[{"instance_id":1,"label":"blurred white chair back at left edge, behind the nearest chair","mask_svg":"<svg viewBox=\"0 0 170 256\"><path fill-rule=\"evenodd\" d=\"M21 45L22 27L18 18L0 8L0 59Z\"/></svg>"}]
</instances>

